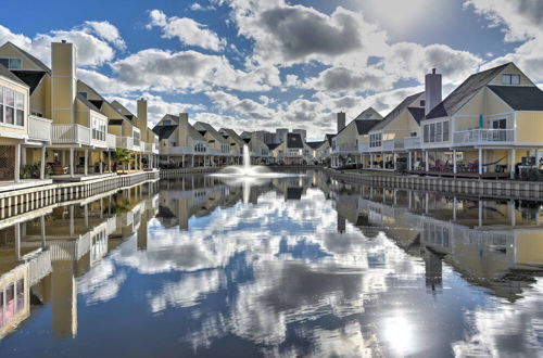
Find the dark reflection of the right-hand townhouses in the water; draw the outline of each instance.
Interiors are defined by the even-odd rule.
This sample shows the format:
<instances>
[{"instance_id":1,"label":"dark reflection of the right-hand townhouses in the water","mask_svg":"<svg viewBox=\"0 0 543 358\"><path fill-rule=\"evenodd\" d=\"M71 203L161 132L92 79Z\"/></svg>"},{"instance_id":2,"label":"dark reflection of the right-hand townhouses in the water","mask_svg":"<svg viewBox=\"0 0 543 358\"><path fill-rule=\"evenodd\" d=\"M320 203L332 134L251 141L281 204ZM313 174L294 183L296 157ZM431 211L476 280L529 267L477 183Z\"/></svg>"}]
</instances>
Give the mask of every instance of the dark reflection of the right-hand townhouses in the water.
<instances>
[{"instance_id":1,"label":"dark reflection of the right-hand townhouses in the water","mask_svg":"<svg viewBox=\"0 0 543 358\"><path fill-rule=\"evenodd\" d=\"M344 183L337 183L332 199L339 232L343 217L367 238L383 232L424 259L432 292L441 291L443 261L510 302L543 274L541 203Z\"/></svg>"}]
</instances>

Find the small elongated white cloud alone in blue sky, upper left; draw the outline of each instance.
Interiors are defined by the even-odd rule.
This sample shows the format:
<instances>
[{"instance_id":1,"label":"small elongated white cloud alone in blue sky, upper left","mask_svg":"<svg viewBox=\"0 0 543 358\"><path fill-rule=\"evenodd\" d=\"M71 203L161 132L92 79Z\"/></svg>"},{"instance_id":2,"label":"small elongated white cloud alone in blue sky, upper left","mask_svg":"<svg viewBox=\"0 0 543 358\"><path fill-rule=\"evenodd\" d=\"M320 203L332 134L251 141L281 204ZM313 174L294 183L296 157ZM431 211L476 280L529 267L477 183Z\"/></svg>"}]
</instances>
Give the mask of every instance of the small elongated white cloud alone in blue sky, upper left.
<instances>
[{"instance_id":1,"label":"small elongated white cloud alone in blue sky, upper left","mask_svg":"<svg viewBox=\"0 0 543 358\"><path fill-rule=\"evenodd\" d=\"M160 10L150 11L149 17L151 22L147 28L161 27L164 38L177 38L181 43L212 51L222 51L225 48L225 39L220 39L217 34L192 18L168 17Z\"/></svg>"}]
</instances>

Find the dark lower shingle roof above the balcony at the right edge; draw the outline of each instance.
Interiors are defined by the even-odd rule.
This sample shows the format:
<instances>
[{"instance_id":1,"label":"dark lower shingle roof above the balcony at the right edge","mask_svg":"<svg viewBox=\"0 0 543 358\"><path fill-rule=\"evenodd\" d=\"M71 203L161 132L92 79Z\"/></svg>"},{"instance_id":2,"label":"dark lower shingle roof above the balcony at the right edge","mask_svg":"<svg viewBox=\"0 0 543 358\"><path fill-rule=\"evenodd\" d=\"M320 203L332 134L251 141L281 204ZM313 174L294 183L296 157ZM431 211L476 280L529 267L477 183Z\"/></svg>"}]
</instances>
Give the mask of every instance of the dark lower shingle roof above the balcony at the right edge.
<instances>
[{"instance_id":1,"label":"dark lower shingle roof above the balcony at the right edge","mask_svg":"<svg viewBox=\"0 0 543 358\"><path fill-rule=\"evenodd\" d=\"M515 111L543 111L543 91L538 87L489 86Z\"/></svg>"}]
</instances>

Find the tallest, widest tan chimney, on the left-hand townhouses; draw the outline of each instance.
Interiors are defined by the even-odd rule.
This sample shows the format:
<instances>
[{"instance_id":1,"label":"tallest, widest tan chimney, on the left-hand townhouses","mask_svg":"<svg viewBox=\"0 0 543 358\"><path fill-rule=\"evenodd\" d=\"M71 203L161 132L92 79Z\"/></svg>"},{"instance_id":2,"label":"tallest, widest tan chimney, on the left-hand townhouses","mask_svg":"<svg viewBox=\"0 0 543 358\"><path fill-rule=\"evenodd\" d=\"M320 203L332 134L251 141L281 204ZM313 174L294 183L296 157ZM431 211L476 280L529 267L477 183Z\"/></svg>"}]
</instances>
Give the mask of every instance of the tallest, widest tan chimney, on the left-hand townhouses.
<instances>
[{"instance_id":1,"label":"tallest, widest tan chimney, on the left-hand townhouses","mask_svg":"<svg viewBox=\"0 0 543 358\"><path fill-rule=\"evenodd\" d=\"M75 124L74 102L77 93L77 49L62 40L51 43L52 119L56 124ZM90 127L90 124L83 124Z\"/></svg>"}]
</instances>

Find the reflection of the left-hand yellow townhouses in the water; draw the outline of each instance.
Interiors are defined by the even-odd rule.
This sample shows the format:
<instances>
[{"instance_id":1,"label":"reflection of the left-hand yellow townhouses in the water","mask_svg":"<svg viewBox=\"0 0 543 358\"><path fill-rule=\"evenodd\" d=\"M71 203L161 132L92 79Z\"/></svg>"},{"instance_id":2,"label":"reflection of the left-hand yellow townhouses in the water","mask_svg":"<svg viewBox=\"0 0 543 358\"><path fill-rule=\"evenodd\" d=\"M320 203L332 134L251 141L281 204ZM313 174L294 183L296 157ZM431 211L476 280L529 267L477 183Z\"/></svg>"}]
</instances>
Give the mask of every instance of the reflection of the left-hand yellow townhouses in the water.
<instances>
[{"instance_id":1,"label":"reflection of the left-hand yellow townhouses in the water","mask_svg":"<svg viewBox=\"0 0 543 358\"><path fill-rule=\"evenodd\" d=\"M53 334L75 336L78 279L127 239L146 250L157 190L143 183L2 221L0 338L48 304Z\"/></svg>"}]
</instances>

